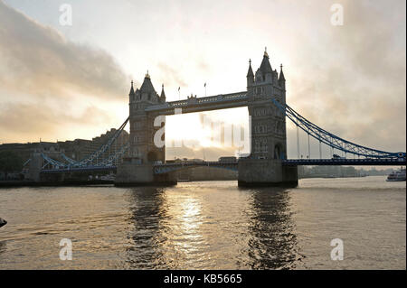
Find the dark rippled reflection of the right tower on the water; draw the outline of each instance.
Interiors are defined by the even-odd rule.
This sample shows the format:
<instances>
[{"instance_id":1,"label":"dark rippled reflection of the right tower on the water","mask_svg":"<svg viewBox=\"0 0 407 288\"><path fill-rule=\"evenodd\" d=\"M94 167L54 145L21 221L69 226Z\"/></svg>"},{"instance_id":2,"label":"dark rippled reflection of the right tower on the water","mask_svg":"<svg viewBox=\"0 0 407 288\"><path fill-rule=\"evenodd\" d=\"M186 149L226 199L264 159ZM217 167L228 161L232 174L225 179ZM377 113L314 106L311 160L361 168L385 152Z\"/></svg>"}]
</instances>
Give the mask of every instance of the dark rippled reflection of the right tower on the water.
<instances>
[{"instance_id":1,"label":"dark rippled reflection of the right tower on the water","mask_svg":"<svg viewBox=\"0 0 407 288\"><path fill-rule=\"evenodd\" d=\"M252 190L247 254L251 269L295 268L298 254L289 190Z\"/></svg>"}]
</instances>

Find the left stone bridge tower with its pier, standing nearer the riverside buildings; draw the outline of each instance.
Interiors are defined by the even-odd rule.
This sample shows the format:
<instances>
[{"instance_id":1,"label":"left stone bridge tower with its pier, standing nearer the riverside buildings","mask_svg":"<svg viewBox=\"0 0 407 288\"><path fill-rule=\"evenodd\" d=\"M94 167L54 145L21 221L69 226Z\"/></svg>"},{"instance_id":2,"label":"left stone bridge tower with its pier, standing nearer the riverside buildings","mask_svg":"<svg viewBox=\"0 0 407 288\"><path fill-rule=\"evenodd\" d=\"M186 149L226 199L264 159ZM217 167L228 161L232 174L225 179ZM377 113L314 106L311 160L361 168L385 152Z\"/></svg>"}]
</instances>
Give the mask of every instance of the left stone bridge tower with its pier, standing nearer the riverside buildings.
<instances>
[{"instance_id":1,"label":"left stone bridge tower with its pier, standing nearer the riverside buildings","mask_svg":"<svg viewBox=\"0 0 407 288\"><path fill-rule=\"evenodd\" d=\"M146 74L141 87L133 88L131 81L129 98L129 123L130 123L130 149L128 157L123 159L123 163L118 166L116 176L116 184L118 185L134 185L147 184L160 181L170 180L172 175L154 175L153 164L157 162L165 163L166 161L166 146L157 146L154 143L154 136L157 130L163 125L155 125L156 114L147 112L146 107L166 103L166 93L164 85L161 90L161 95L158 96L156 89L151 82L150 75ZM161 140L165 141L163 134Z\"/></svg>"}]
</instances>

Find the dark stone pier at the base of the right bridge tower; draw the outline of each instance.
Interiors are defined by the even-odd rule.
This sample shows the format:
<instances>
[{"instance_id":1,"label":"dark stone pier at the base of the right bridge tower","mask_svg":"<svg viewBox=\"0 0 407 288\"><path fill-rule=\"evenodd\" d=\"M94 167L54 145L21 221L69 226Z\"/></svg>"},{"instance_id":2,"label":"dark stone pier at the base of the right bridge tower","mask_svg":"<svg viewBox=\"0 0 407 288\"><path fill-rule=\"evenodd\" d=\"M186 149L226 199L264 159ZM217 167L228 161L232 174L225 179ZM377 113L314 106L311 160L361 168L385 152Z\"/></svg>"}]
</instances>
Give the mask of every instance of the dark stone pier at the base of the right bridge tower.
<instances>
[{"instance_id":1,"label":"dark stone pier at the base of the right bridge tower","mask_svg":"<svg viewBox=\"0 0 407 288\"><path fill-rule=\"evenodd\" d=\"M241 187L297 187L298 169L283 166L279 159L240 159L238 183Z\"/></svg>"}]
</instances>

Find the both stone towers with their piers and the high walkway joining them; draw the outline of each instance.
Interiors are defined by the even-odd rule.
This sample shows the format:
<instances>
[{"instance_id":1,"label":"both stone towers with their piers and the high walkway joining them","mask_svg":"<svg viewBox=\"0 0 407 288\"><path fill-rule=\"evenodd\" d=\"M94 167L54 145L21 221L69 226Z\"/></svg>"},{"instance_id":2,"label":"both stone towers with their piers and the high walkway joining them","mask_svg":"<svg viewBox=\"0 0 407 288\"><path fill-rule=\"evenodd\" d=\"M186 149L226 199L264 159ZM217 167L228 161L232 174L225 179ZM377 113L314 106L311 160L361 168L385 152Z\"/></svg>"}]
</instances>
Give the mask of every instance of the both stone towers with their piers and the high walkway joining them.
<instances>
[{"instance_id":1,"label":"both stone towers with their piers and the high walkway joining them","mask_svg":"<svg viewBox=\"0 0 407 288\"><path fill-rule=\"evenodd\" d=\"M147 73L136 90L133 83L129 92L130 150L129 156L118 167L119 184L138 184L175 181L172 172L155 173L154 163L165 163L166 147L158 147L154 136L163 126L155 126L156 116L193 113L232 107L248 107L251 116L251 155L240 159L240 185L297 185L297 167L283 166L287 158L286 117L270 99L286 103L286 79L280 67L273 70L267 51L260 67L253 72L251 61L246 75L247 90L205 98L191 97L166 102L164 86L158 95ZM161 140L165 141L165 134Z\"/></svg>"}]
</instances>

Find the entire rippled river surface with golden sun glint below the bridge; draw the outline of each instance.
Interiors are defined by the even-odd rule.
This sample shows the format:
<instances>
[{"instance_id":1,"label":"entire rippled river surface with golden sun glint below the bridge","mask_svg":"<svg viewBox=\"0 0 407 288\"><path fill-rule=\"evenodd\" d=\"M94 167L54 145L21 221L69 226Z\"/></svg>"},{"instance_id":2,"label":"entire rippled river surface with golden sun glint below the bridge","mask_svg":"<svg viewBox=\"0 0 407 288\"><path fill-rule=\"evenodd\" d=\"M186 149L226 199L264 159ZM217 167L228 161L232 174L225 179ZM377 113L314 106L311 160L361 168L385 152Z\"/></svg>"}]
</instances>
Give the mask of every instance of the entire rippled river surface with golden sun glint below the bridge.
<instances>
[{"instance_id":1,"label":"entire rippled river surface with golden sun glint below the bridge","mask_svg":"<svg viewBox=\"0 0 407 288\"><path fill-rule=\"evenodd\" d=\"M406 183L384 180L2 189L0 269L405 269Z\"/></svg>"}]
</instances>

